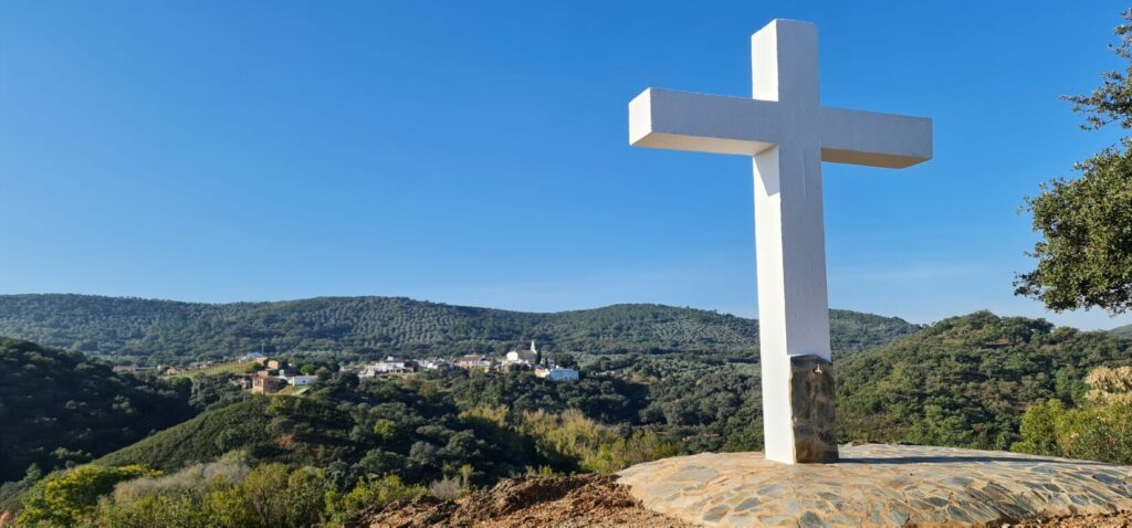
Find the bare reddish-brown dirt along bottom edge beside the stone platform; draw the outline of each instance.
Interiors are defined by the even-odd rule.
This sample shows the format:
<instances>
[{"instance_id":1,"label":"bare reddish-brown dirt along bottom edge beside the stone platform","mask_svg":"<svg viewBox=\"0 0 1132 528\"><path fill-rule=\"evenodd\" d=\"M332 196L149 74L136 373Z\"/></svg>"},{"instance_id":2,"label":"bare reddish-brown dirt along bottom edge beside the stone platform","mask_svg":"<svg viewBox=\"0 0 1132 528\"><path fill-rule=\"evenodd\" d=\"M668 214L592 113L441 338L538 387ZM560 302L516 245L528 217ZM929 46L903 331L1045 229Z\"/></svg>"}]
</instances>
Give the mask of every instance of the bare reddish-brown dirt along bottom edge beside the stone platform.
<instances>
[{"instance_id":1,"label":"bare reddish-brown dirt along bottom edge beside the stone platform","mask_svg":"<svg viewBox=\"0 0 1132 528\"><path fill-rule=\"evenodd\" d=\"M348 528L687 528L641 507L608 475L518 477L456 501L430 496L362 512ZM1132 528L1132 512L996 525L1010 528Z\"/></svg>"}]
</instances>

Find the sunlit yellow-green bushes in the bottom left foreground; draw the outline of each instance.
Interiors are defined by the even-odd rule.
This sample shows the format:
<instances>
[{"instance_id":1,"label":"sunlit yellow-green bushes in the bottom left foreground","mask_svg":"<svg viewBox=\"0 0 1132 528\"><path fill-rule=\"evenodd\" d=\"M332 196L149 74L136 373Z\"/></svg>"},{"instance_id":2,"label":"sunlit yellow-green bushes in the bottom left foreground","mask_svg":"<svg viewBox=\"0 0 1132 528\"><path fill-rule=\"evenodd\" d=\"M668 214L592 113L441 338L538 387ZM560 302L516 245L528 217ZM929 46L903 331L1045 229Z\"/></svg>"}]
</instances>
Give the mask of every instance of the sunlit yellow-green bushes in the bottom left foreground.
<instances>
[{"instance_id":1,"label":"sunlit yellow-green bushes in the bottom left foreground","mask_svg":"<svg viewBox=\"0 0 1132 528\"><path fill-rule=\"evenodd\" d=\"M52 475L29 493L25 527L307 528L342 526L365 508L426 493L395 476L363 479L348 491L315 467L239 457L163 475L140 466L84 466Z\"/></svg>"}]
</instances>

